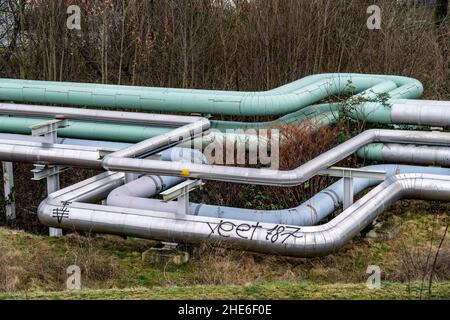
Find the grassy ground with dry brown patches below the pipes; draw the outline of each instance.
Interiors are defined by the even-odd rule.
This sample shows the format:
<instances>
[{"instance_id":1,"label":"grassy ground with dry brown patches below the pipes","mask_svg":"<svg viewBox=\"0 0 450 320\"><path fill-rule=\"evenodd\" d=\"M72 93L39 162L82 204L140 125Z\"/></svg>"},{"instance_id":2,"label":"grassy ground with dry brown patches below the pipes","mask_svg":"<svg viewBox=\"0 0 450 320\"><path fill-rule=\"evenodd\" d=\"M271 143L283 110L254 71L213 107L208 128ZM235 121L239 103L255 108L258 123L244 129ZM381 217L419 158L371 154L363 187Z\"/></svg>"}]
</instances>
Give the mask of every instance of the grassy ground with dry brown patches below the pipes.
<instances>
[{"instance_id":1,"label":"grassy ground with dry brown patches below the pipes","mask_svg":"<svg viewBox=\"0 0 450 320\"><path fill-rule=\"evenodd\" d=\"M142 261L153 241L48 238L0 228L0 298L418 299L421 279L429 271L430 245L432 261L448 209L400 202L382 216L379 238L356 237L327 257L289 258L203 245L181 266ZM432 295L424 290L423 298L450 298L448 237L440 257ZM77 292L65 291L66 268L73 264L82 269L83 290ZM380 290L364 285L369 265L381 267Z\"/></svg>"}]
</instances>

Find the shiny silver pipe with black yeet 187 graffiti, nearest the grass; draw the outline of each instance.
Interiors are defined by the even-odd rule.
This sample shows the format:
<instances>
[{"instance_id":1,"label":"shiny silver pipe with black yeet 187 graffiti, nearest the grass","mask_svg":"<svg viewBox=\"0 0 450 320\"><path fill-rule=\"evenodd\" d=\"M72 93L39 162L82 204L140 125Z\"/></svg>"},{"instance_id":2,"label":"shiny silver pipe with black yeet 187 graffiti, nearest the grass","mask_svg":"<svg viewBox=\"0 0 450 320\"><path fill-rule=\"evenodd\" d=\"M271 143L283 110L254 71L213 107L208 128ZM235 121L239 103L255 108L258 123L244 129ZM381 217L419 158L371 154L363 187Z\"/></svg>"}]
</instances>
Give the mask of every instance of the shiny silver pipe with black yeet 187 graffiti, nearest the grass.
<instances>
[{"instance_id":1,"label":"shiny silver pipe with black yeet 187 graffiti, nearest the grass","mask_svg":"<svg viewBox=\"0 0 450 320\"><path fill-rule=\"evenodd\" d=\"M78 203L67 193L60 195L47 198L39 206L38 216L43 224L170 242L218 241L252 251L314 257L342 248L399 199L448 201L450 178L426 174L390 177L330 222L314 227L180 217L158 211L144 211L142 215L142 210ZM63 199L73 202L62 202Z\"/></svg>"}]
</instances>

